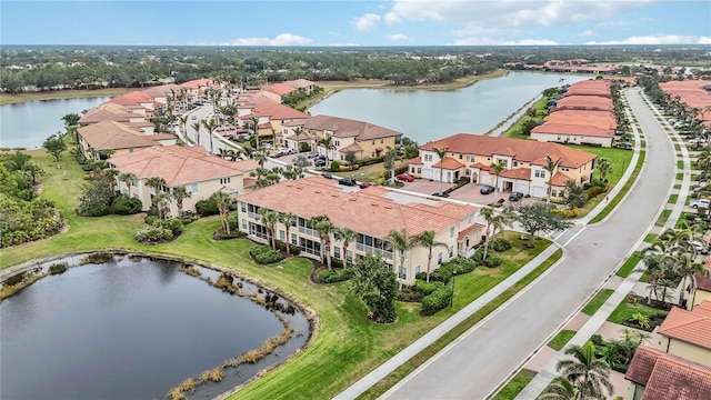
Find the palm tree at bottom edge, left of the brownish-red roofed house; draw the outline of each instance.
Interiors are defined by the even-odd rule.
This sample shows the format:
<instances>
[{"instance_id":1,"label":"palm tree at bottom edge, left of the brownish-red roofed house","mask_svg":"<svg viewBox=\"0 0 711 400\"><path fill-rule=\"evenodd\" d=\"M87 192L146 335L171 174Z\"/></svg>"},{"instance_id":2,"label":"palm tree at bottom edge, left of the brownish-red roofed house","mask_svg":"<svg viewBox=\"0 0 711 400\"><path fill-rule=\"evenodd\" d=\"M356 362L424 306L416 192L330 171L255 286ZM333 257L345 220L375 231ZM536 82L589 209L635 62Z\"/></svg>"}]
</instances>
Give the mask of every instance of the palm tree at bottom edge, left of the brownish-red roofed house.
<instances>
[{"instance_id":1,"label":"palm tree at bottom edge, left of the brownish-red roofed house","mask_svg":"<svg viewBox=\"0 0 711 400\"><path fill-rule=\"evenodd\" d=\"M603 390L612 393L610 366L595 357L595 346L591 341L569 346L565 354L573 359L558 361L555 369L575 386L582 398L604 398Z\"/></svg>"}]
</instances>

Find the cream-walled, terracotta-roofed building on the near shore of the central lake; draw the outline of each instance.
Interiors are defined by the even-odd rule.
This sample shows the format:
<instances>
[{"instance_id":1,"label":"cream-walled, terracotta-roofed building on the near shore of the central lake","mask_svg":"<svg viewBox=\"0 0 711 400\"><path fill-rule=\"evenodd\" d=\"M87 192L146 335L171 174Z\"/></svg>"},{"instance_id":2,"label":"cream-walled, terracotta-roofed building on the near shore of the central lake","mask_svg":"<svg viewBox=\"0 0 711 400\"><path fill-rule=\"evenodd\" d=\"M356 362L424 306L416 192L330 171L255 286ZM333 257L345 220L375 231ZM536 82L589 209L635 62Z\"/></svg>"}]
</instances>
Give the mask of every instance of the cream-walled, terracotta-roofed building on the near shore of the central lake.
<instances>
[{"instance_id":1,"label":"cream-walled, terracotta-roofed building on the near shore of the central lake","mask_svg":"<svg viewBox=\"0 0 711 400\"><path fill-rule=\"evenodd\" d=\"M302 133L297 138L294 129ZM308 142L319 153L330 160L344 160L346 154L353 152L357 159L379 157L388 148L395 148L402 133L370 122L357 121L331 116L313 116L303 123L289 123L282 128L286 146L298 148ZM330 140L329 147L319 143Z\"/></svg>"}]
</instances>

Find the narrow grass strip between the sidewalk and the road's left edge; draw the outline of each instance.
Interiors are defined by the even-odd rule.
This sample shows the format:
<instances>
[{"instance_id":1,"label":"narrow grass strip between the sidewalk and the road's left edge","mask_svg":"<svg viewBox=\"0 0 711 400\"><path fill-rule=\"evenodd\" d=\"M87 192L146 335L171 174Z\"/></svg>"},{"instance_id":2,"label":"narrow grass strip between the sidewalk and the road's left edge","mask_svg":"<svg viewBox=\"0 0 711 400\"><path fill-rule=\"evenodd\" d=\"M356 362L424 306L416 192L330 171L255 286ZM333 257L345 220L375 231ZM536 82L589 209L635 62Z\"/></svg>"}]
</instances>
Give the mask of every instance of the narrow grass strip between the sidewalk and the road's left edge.
<instances>
[{"instance_id":1,"label":"narrow grass strip between the sidewalk and the road's left edge","mask_svg":"<svg viewBox=\"0 0 711 400\"><path fill-rule=\"evenodd\" d=\"M475 326L479 321L484 319L491 312L493 312L497 308L501 307L501 304L509 301L512 297L514 297L518 292L523 290L529 283L534 281L538 277L540 277L543 272L545 272L551 266L553 266L560 258L563 257L562 250L557 250L548 260L543 261L539 267L537 267L533 271L529 272L523 279L518 281L511 288L507 289L503 293L499 294L497 298L491 300L487 306L482 307L479 311L474 312L471 317L462 321L460 324L454 327L452 330L443 334L440 339L434 341L434 343L430 344L427 349L422 350L417 356L412 357L410 360L404 362L398 369L395 369L388 377L382 379L380 382L372 386L369 390L367 390L363 394L358 398L361 400L365 399L377 399L382 393L388 391L392 386L401 381L404 377L407 377L410 372L414 371L418 367L420 367L423 362L429 360L432 356L437 354L440 350L451 343L454 339L459 338L462 333L467 332L471 327ZM459 282L459 278L457 278L457 282ZM459 283L458 283L459 284ZM457 304L457 301L454 301Z\"/></svg>"}]
</instances>

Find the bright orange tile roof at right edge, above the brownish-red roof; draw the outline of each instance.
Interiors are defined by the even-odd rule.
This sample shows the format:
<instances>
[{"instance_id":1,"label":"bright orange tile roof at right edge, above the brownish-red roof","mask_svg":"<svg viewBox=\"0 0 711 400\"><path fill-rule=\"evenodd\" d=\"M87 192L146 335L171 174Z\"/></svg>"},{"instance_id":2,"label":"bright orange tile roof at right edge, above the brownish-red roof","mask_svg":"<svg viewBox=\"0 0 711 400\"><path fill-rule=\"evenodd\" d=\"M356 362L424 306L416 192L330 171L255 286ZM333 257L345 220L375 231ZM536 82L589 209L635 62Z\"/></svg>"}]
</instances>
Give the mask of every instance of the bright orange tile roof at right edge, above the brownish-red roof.
<instances>
[{"instance_id":1,"label":"bright orange tile roof at right edge, above the brownish-red roof","mask_svg":"<svg viewBox=\"0 0 711 400\"><path fill-rule=\"evenodd\" d=\"M674 307L659 327L659 334L711 349L711 318Z\"/></svg>"}]
</instances>

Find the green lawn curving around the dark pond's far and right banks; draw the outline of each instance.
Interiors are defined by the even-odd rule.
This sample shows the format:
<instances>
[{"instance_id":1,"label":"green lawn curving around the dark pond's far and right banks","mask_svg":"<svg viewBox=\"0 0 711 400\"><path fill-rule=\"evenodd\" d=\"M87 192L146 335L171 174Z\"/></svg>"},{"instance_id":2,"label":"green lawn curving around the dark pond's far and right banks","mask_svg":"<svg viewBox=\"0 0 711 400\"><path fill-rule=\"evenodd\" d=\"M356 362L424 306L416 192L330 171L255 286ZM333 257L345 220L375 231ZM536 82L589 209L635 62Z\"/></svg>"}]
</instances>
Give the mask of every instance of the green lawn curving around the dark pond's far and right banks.
<instances>
[{"instance_id":1,"label":"green lawn curving around the dark pond's far and right banks","mask_svg":"<svg viewBox=\"0 0 711 400\"><path fill-rule=\"evenodd\" d=\"M318 322L309 346L289 362L267 372L233 396L240 399L332 398L503 281L550 244L550 241L540 240L534 241L533 249L525 249L524 243L515 239L517 234L509 233L507 236L511 239L513 249L502 253L504 262L499 268L479 268L472 273L457 277L453 309L442 310L431 317L421 317L420 304L398 302L395 323L374 324L369 321L367 310L358 297L351 293L348 283L312 283L309 279L312 270L310 260L288 258L273 266L258 266L249 256L249 249L254 246L250 240L212 241L211 233L221 223L219 217L203 218L186 226L183 233L174 241L157 246L140 244L133 239L136 231L144 224L142 213L79 217L73 209L81 196L81 186L86 182L82 180L83 171L79 164L64 153L60 162L61 168L58 169L43 150L30 153L47 171L47 176L42 178L41 196L57 204L69 227L66 232L52 238L2 249L0 269L67 253L112 249L140 251L182 258L187 262L206 267L219 266L230 269L236 274L297 300L316 312ZM487 304L474 319L468 321L468 324L441 339L443 341L440 346L445 346L475 321L492 312L560 257L559 250L552 259L509 289L505 294ZM231 356L226 354L226 358Z\"/></svg>"}]
</instances>

